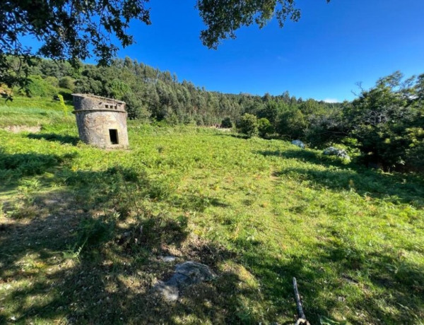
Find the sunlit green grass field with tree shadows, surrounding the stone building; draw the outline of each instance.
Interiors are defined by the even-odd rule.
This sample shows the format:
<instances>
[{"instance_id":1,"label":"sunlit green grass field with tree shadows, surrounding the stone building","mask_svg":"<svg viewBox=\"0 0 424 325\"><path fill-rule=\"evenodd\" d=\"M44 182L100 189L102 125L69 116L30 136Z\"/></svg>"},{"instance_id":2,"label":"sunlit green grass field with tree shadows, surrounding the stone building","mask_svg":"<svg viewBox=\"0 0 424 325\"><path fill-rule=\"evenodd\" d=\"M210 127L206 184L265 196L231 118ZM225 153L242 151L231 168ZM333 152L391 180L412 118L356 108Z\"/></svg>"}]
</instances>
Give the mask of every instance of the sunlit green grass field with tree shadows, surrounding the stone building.
<instances>
[{"instance_id":1,"label":"sunlit green grass field with tree shadows, surrounding the stone building","mask_svg":"<svg viewBox=\"0 0 424 325\"><path fill-rule=\"evenodd\" d=\"M0 130L0 323L293 324L295 276L311 324L424 324L422 176L134 122L100 150L47 105L0 107L42 126ZM218 278L165 302L165 255Z\"/></svg>"}]
</instances>

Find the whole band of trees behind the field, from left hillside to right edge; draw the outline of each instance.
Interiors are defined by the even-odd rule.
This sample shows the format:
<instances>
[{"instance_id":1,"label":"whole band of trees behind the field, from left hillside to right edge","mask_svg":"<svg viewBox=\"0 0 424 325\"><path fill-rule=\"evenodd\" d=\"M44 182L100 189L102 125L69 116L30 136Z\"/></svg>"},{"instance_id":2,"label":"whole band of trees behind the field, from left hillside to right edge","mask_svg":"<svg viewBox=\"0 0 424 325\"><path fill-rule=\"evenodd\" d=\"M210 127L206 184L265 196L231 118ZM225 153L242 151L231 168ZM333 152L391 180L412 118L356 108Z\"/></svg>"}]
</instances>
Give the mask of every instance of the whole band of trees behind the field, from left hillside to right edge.
<instances>
[{"instance_id":1,"label":"whole band of trees behind the field, from left hillside to right edge","mask_svg":"<svg viewBox=\"0 0 424 325\"><path fill-rule=\"evenodd\" d=\"M277 96L207 91L128 57L110 66L77 68L36 59L26 69L30 82L20 92L28 96L92 93L124 100L130 119L237 126L247 136L300 139L319 148L338 144L385 170L424 169L424 74L405 80L396 72L370 90L360 88L352 102L326 103L287 91Z\"/></svg>"}]
</instances>

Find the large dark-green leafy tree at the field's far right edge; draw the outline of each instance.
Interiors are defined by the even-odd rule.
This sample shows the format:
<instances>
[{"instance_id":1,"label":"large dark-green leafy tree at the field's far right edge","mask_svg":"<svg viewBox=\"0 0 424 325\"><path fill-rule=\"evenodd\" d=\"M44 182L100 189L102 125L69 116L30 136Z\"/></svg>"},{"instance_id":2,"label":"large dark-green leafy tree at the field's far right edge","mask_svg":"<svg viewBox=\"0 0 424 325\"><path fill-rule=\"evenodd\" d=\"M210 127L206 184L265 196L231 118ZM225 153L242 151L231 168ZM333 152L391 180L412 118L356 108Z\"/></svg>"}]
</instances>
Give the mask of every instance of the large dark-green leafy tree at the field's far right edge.
<instances>
[{"instance_id":1,"label":"large dark-green leafy tree at the field's far right edge","mask_svg":"<svg viewBox=\"0 0 424 325\"><path fill-rule=\"evenodd\" d=\"M423 164L420 78L403 78L399 71L380 78L346 109L351 136L369 165L389 170Z\"/></svg>"}]
</instances>

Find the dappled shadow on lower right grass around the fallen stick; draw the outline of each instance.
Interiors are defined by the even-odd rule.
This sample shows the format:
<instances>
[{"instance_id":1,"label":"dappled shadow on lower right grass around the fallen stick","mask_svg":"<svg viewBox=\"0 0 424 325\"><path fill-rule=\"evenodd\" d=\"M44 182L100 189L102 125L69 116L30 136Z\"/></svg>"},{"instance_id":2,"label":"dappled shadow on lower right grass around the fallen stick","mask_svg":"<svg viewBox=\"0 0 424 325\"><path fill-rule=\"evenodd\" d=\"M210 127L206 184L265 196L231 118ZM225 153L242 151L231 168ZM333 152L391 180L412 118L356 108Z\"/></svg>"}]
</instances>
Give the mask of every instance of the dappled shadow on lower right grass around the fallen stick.
<instances>
[{"instance_id":1,"label":"dappled shadow on lower right grass around the fallen stick","mask_svg":"<svg viewBox=\"0 0 424 325\"><path fill-rule=\"evenodd\" d=\"M311 324L320 324L320 315L345 309L347 300L356 309L346 315L352 324L415 324L423 319L422 265L399 252L379 247L360 250L331 237L336 239L319 243L319 249L305 247L305 254L285 260L266 254L257 243L243 245L243 264L261 280L269 306L278 306L276 312L286 315L295 313L290 300L294 276Z\"/></svg>"}]
</instances>

